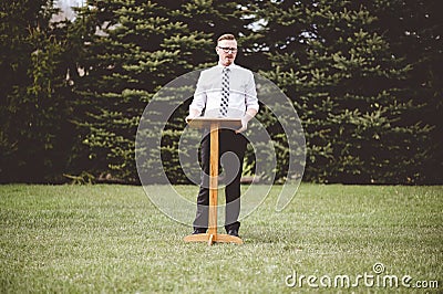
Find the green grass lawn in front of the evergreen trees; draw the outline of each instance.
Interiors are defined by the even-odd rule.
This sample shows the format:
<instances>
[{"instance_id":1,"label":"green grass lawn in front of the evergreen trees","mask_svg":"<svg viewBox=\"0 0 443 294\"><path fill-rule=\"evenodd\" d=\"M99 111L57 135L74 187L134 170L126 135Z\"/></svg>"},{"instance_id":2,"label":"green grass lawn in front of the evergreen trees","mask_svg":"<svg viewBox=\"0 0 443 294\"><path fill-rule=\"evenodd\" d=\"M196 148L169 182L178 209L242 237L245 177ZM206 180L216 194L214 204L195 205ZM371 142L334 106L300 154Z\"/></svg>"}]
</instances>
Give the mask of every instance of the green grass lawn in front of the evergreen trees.
<instances>
[{"instance_id":1,"label":"green grass lawn in front of the evergreen trees","mask_svg":"<svg viewBox=\"0 0 443 294\"><path fill-rule=\"evenodd\" d=\"M243 220L244 245L208 246L183 242L192 229L162 214L142 187L0 186L0 293L311 290L307 277L289 287L295 273L317 277L320 290L329 276L332 292L408 290L377 286L384 275L399 284L410 275L411 286L437 281L426 291L442 291L443 187L301 185L279 213L276 197ZM365 273L372 287L357 280ZM359 287L334 287L338 275Z\"/></svg>"}]
</instances>

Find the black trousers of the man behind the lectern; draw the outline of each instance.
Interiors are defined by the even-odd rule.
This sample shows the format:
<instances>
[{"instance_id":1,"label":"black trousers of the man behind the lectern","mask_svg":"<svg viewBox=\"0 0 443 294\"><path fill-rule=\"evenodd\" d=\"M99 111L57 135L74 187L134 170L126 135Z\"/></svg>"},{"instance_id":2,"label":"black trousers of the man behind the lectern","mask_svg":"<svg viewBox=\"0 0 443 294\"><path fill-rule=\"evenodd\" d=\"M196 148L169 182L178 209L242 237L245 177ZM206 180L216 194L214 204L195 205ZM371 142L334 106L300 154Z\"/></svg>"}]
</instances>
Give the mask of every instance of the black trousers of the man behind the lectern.
<instances>
[{"instance_id":1,"label":"black trousers of the man behind the lectern","mask_svg":"<svg viewBox=\"0 0 443 294\"><path fill-rule=\"evenodd\" d=\"M207 135L202 140L200 160L203 172L197 196L197 213L194 220L194 229L207 229L208 227L210 136L208 132L206 133ZM225 229L226 231L238 230L240 228L238 222L238 216L240 214L240 177L247 139L241 134L235 134L231 129L220 129L218 143L219 162L223 168L222 175L226 183Z\"/></svg>"}]
</instances>

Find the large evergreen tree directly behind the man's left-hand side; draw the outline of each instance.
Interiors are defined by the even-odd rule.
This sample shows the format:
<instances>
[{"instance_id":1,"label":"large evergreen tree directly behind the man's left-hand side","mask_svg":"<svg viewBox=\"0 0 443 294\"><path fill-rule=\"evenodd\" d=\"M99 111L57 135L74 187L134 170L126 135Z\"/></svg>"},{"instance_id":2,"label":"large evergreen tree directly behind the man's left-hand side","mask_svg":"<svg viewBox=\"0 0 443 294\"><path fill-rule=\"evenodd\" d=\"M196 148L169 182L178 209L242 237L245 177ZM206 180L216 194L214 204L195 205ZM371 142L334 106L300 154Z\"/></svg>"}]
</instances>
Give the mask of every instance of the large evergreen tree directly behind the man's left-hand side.
<instances>
[{"instance_id":1,"label":"large evergreen tree directly behind the man's left-hand side","mask_svg":"<svg viewBox=\"0 0 443 294\"><path fill-rule=\"evenodd\" d=\"M79 10L86 51L75 91L84 101L79 109L89 112L80 125L87 129L84 143L95 174L137 181L134 141L144 107L169 81L215 64L217 34L247 27L241 11L229 1L89 1ZM162 156L177 181L185 180L177 170L177 143L189 102L163 130Z\"/></svg>"}]
</instances>

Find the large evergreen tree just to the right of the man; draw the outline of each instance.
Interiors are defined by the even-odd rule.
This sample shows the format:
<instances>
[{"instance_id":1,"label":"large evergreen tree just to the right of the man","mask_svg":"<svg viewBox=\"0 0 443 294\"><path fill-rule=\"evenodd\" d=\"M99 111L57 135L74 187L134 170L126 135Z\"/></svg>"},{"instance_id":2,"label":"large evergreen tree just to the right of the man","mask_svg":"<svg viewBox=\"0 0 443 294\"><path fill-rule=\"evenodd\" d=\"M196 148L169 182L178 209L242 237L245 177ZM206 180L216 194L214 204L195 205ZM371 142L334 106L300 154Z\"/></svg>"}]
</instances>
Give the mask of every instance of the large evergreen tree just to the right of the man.
<instances>
[{"instance_id":1,"label":"large evergreen tree just to the right of the man","mask_svg":"<svg viewBox=\"0 0 443 294\"><path fill-rule=\"evenodd\" d=\"M272 70L299 111L306 178L324 182L414 182L430 127L402 85L411 67L392 54L360 2L258 2ZM278 13L279 12L279 13ZM266 48L266 46L265 46Z\"/></svg>"}]
</instances>

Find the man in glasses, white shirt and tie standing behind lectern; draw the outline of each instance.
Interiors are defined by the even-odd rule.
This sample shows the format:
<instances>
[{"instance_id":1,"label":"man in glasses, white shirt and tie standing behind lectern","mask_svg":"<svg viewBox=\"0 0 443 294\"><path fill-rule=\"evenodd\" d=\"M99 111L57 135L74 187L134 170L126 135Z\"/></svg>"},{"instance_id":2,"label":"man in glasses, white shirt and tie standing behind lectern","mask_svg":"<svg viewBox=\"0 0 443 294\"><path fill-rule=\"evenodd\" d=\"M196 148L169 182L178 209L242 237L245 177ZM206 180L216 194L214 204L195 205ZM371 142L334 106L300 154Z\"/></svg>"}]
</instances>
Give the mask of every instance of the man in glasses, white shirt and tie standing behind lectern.
<instances>
[{"instance_id":1,"label":"man in glasses, white shirt and tie standing behind lectern","mask_svg":"<svg viewBox=\"0 0 443 294\"><path fill-rule=\"evenodd\" d=\"M226 217L225 229L230 235L238 237L240 223L240 177L247 140L240 134L247 129L248 122L258 112L258 99L254 74L234 63L237 56L237 41L233 34L223 34L217 40L218 64L200 73L194 99L189 106L186 122L204 115L206 117L240 118L237 130L219 132L219 155L234 153L239 160L222 162L225 178ZM203 114L204 112L204 114ZM194 220L194 234L205 233L208 227L209 206L209 135L202 140L202 185L197 197L197 213Z\"/></svg>"}]
</instances>

